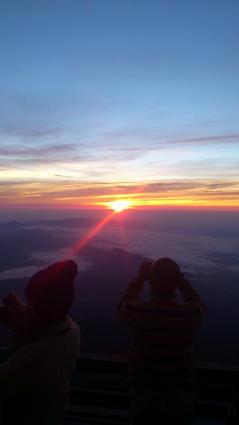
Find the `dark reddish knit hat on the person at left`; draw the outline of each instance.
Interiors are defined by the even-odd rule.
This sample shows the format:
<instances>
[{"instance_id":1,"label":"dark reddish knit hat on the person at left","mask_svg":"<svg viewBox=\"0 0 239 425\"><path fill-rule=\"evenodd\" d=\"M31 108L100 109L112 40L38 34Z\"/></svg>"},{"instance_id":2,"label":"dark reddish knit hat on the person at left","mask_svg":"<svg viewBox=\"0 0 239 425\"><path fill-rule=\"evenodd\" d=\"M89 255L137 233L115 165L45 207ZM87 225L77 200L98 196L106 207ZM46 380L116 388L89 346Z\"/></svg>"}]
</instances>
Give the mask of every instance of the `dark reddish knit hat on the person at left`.
<instances>
[{"instance_id":1,"label":"dark reddish knit hat on the person at left","mask_svg":"<svg viewBox=\"0 0 239 425\"><path fill-rule=\"evenodd\" d=\"M66 260L54 263L31 277L24 294L33 303L37 320L49 325L64 320L74 300L77 273L77 264Z\"/></svg>"}]
</instances>

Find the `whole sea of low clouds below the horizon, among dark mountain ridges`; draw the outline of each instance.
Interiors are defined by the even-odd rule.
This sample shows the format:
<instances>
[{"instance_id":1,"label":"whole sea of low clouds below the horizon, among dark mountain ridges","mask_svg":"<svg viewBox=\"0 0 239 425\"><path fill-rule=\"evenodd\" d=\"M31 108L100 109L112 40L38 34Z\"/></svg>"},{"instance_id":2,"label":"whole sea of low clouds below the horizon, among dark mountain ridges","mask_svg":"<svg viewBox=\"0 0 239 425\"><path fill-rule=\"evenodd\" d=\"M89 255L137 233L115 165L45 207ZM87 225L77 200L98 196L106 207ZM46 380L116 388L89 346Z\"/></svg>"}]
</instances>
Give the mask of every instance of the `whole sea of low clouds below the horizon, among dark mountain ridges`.
<instances>
[{"instance_id":1,"label":"whole sea of low clouds below the horizon, among dark mountain ridges","mask_svg":"<svg viewBox=\"0 0 239 425\"><path fill-rule=\"evenodd\" d=\"M75 251L78 241L80 243L82 238L90 233L89 228L71 229L52 226L42 228L51 235L74 236L72 247L59 247L59 250L52 252L36 250L29 253L29 259L33 260L33 263L35 260L35 265L25 267L18 265L15 269L5 270L0 273L0 280L28 277L49 264L69 258L76 261L80 271L86 271L92 267L90 261L81 257L80 251ZM151 259L170 257L179 263L183 272L191 276L196 276L199 272L214 274L225 270L239 273L239 238L192 236L116 226L103 228L88 244L103 250L122 248L129 253Z\"/></svg>"}]
</instances>

